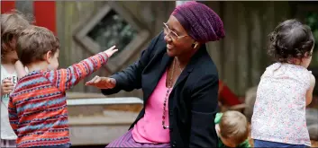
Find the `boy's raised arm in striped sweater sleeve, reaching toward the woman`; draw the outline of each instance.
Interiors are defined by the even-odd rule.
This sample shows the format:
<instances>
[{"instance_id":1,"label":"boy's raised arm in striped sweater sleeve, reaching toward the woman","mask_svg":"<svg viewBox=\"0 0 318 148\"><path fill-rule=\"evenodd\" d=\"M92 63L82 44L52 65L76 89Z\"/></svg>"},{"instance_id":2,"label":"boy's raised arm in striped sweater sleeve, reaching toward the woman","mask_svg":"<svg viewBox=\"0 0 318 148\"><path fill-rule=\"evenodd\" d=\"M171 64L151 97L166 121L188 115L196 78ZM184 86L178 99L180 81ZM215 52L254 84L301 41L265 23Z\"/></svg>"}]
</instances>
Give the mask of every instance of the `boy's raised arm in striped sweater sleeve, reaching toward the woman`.
<instances>
[{"instance_id":1,"label":"boy's raised arm in striped sweater sleeve, reaching toward the woman","mask_svg":"<svg viewBox=\"0 0 318 148\"><path fill-rule=\"evenodd\" d=\"M44 75L53 83L60 91L66 91L76 85L86 75L94 73L101 66L105 65L108 58L111 57L117 49L109 48L104 52L100 52L93 57L88 57L78 64L71 65L67 69L59 69L48 71Z\"/></svg>"}]
</instances>

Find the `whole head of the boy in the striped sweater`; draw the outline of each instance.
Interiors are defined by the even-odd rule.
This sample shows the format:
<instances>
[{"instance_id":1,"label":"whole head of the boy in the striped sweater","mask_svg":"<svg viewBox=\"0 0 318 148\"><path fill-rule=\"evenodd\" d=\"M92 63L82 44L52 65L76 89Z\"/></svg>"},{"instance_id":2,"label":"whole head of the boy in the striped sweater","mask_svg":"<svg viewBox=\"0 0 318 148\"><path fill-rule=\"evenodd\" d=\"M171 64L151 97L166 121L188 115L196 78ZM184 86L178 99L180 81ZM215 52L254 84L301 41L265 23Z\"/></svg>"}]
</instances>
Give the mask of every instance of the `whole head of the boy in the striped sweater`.
<instances>
[{"instance_id":1,"label":"whole head of the boy in the striped sweater","mask_svg":"<svg viewBox=\"0 0 318 148\"><path fill-rule=\"evenodd\" d=\"M30 25L20 34L17 54L23 65L55 70L59 67L59 39L44 27Z\"/></svg>"}]
</instances>

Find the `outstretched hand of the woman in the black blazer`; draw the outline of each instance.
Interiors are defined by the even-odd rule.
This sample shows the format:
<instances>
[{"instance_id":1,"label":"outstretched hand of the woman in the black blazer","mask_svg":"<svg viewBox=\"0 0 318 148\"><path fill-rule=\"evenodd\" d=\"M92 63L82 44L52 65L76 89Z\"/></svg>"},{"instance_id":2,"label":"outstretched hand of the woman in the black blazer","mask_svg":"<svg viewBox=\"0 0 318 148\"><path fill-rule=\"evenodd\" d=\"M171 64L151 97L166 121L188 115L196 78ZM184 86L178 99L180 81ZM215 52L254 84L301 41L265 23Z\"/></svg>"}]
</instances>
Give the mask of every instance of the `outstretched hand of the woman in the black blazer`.
<instances>
[{"instance_id":1,"label":"outstretched hand of the woman in the black blazer","mask_svg":"<svg viewBox=\"0 0 318 148\"><path fill-rule=\"evenodd\" d=\"M113 89L116 86L116 80L109 77L95 76L92 80L85 83L88 86L95 86L99 89Z\"/></svg>"}]
</instances>

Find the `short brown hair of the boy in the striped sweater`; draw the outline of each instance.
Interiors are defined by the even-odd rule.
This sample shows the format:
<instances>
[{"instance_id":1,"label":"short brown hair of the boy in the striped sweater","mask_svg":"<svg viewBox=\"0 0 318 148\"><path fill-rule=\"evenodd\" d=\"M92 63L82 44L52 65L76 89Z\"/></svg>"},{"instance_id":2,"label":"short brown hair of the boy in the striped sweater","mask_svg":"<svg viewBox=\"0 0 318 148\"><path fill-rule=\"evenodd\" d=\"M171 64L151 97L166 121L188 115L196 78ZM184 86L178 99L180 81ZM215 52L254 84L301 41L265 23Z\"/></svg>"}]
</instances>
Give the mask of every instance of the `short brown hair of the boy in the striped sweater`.
<instances>
[{"instance_id":1,"label":"short brown hair of the boy in the striped sweater","mask_svg":"<svg viewBox=\"0 0 318 148\"><path fill-rule=\"evenodd\" d=\"M30 25L23 30L17 40L16 51L23 65L44 60L51 51L52 56L59 49L59 39L44 27Z\"/></svg>"}]
</instances>

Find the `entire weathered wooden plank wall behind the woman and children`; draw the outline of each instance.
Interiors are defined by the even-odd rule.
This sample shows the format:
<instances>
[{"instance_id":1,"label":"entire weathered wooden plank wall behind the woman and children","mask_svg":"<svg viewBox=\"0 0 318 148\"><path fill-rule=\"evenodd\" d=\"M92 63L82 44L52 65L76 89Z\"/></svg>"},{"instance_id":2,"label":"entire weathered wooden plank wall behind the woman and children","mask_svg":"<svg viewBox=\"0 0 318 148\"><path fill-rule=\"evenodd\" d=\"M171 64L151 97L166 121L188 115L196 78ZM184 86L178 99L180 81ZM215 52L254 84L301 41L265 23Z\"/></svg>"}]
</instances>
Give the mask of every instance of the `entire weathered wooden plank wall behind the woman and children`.
<instances>
[{"instance_id":1,"label":"entire weathered wooden plank wall behind the woman and children","mask_svg":"<svg viewBox=\"0 0 318 148\"><path fill-rule=\"evenodd\" d=\"M61 42L60 65L79 62L91 56L84 48L77 45L72 35L80 22L92 17L98 8L106 2L57 2L58 36ZM154 37L162 30L162 22L168 20L169 14L175 7L175 2L139 2L118 1L123 8L135 16L142 25L150 30ZM267 57L268 33L278 22L290 17L288 2L204 2L214 9L223 19L226 38L208 44L209 53L219 69L220 78L236 94L244 95L245 91L259 83L259 77L270 64ZM141 9L142 8L142 9ZM145 44L145 48L148 44ZM132 59L123 65L131 65L138 59L140 53L132 55ZM105 69L98 70L94 75L110 75ZM90 76L70 91L99 92L86 87L84 83ZM142 97L141 91L120 92L113 95Z\"/></svg>"}]
</instances>

